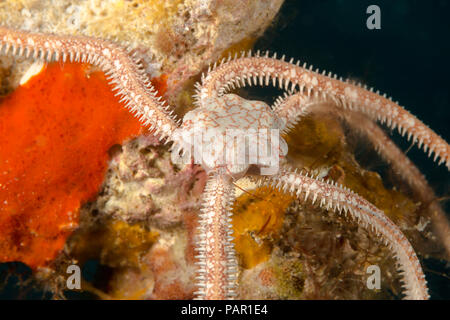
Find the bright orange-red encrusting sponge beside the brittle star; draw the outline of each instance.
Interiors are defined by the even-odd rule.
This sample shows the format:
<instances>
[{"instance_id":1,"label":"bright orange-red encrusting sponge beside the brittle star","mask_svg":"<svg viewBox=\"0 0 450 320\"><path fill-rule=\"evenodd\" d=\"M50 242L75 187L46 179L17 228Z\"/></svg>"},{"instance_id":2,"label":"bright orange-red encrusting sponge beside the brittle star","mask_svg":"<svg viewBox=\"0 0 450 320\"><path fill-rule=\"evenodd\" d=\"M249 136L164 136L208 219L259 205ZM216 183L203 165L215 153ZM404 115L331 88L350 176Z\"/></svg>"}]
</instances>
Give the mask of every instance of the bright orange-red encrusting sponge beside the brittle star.
<instances>
[{"instance_id":1,"label":"bright orange-red encrusting sponge beside the brittle star","mask_svg":"<svg viewBox=\"0 0 450 320\"><path fill-rule=\"evenodd\" d=\"M0 103L0 262L54 259L99 190L108 149L142 130L90 68L48 65Z\"/></svg>"}]
</instances>

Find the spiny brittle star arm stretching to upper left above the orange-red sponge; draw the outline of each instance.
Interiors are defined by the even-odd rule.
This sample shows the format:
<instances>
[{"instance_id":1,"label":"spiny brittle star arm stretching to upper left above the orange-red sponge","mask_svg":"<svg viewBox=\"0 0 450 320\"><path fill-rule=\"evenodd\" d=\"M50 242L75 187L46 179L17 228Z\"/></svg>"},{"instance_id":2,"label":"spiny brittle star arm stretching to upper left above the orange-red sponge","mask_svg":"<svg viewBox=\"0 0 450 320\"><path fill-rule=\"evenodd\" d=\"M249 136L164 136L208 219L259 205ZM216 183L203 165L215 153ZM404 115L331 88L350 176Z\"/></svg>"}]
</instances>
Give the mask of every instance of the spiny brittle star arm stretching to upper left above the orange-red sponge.
<instances>
[{"instance_id":1,"label":"spiny brittle star arm stretching to upper left above the orange-red sponge","mask_svg":"<svg viewBox=\"0 0 450 320\"><path fill-rule=\"evenodd\" d=\"M169 106L157 97L142 65L121 46L91 37L30 33L0 26L0 53L12 50L14 56L87 62L100 67L109 83L115 85L127 108L161 139L171 137L178 122Z\"/></svg>"}]
</instances>

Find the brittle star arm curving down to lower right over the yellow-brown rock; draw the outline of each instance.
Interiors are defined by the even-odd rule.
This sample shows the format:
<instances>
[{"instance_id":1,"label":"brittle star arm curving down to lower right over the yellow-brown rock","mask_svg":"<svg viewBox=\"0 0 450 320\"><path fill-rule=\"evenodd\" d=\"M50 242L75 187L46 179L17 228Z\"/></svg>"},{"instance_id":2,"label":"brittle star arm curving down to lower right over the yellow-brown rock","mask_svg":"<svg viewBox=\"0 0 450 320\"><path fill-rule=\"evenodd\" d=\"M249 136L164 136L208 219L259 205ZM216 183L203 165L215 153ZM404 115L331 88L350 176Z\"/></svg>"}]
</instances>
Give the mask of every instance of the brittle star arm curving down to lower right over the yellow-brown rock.
<instances>
[{"instance_id":1,"label":"brittle star arm curving down to lower right over the yellow-brown rock","mask_svg":"<svg viewBox=\"0 0 450 320\"><path fill-rule=\"evenodd\" d=\"M401 230L386 215L370 202L351 190L337 184L309 177L302 172L281 171L279 174L260 180L282 192L295 194L299 199L310 199L314 204L338 213L344 212L363 228L372 229L395 253L402 276L406 299L428 299L425 276L414 249Z\"/></svg>"}]
</instances>

